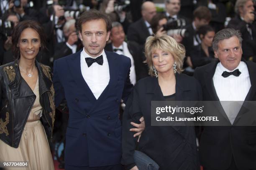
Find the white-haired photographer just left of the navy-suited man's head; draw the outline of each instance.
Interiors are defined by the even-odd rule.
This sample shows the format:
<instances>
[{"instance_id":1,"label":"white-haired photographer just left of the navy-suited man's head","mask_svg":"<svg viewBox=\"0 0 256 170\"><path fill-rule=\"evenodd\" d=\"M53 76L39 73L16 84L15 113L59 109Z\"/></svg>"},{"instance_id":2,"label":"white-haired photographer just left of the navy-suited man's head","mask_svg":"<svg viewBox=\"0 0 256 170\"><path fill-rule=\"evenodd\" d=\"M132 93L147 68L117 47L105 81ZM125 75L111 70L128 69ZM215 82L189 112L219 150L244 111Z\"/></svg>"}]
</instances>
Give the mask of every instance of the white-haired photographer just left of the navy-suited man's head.
<instances>
[{"instance_id":1,"label":"white-haired photographer just left of the navy-suited man's head","mask_svg":"<svg viewBox=\"0 0 256 170\"><path fill-rule=\"evenodd\" d=\"M54 50L54 60L74 54L82 48L81 42L78 40L77 29L75 27L76 20L68 20L63 27L65 42L56 44Z\"/></svg>"}]
</instances>

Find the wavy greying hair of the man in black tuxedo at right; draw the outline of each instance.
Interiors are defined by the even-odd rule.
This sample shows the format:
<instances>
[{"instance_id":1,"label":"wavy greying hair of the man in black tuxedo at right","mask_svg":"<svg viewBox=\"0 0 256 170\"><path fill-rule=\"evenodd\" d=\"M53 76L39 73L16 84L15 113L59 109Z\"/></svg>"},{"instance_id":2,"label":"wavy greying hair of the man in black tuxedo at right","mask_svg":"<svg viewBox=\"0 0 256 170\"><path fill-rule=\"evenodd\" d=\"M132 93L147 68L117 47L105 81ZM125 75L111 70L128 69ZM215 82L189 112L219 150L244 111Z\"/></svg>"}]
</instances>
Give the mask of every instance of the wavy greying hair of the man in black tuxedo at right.
<instances>
[{"instance_id":1,"label":"wavy greying hair of the man in black tuxedo at right","mask_svg":"<svg viewBox=\"0 0 256 170\"><path fill-rule=\"evenodd\" d=\"M233 28L226 28L226 29L223 29L223 30L220 30L219 32L217 32L215 34L215 36L213 37L213 40L212 40L212 49L214 51L217 51L218 50L218 44L220 41L222 40L225 40L225 39L229 39L233 36L236 36L240 42L240 45L242 46L242 35L240 33L239 30L235 30Z\"/></svg>"}]
</instances>

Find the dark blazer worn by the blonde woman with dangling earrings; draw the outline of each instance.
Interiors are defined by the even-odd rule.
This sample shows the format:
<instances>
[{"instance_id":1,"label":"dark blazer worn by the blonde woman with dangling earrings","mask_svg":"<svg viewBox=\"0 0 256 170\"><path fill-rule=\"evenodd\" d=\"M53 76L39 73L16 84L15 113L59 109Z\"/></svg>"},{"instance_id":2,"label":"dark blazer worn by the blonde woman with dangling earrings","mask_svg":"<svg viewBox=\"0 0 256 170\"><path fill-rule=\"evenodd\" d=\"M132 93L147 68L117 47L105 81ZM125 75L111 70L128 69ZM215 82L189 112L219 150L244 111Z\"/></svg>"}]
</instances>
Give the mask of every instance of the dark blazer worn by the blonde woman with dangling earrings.
<instances>
[{"instance_id":1,"label":"dark blazer worn by the blonde woman with dangling earrings","mask_svg":"<svg viewBox=\"0 0 256 170\"><path fill-rule=\"evenodd\" d=\"M176 74L176 100L201 100L200 84L193 77ZM139 122L144 116L145 130L138 149L160 166L160 170L198 170L198 153L193 126L151 126L151 101L165 101L156 77L138 81L126 102L123 115L122 161L123 165L134 163L133 153L138 138L131 121Z\"/></svg>"}]
</instances>

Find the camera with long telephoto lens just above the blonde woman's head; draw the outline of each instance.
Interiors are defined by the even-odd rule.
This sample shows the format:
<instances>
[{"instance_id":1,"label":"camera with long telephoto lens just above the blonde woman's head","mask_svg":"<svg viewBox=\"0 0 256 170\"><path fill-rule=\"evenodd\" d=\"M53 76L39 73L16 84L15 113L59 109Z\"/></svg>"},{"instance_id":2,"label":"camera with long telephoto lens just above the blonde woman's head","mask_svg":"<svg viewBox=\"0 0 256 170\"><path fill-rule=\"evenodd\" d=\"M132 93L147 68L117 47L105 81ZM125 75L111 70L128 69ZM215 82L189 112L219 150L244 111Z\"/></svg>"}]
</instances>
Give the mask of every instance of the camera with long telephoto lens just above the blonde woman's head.
<instances>
[{"instance_id":1,"label":"camera with long telephoto lens just above the blonde woman's head","mask_svg":"<svg viewBox=\"0 0 256 170\"><path fill-rule=\"evenodd\" d=\"M186 25L186 21L184 19L177 19L174 21L169 21L165 25L163 25L164 30L167 31L167 35L181 35L182 37L188 37L188 31L183 27Z\"/></svg>"}]
</instances>

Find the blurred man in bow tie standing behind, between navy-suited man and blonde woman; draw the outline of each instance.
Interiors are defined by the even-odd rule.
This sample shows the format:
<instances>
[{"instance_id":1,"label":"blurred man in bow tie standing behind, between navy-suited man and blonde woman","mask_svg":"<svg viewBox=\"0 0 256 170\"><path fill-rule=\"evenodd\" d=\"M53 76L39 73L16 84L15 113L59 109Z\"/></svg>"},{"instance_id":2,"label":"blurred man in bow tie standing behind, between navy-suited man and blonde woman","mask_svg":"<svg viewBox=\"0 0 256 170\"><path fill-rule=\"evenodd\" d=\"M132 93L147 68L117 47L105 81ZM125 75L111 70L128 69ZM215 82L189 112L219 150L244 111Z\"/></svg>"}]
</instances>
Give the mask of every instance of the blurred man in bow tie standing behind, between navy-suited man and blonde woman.
<instances>
[{"instance_id":1,"label":"blurred man in bow tie standing behind, between navy-suited man and blonde woman","mask_svg":"<svg viewBox=\"0 0 256 170\"><path fill-rule=\"evenodd\" d=\"M148 66L143 63L143 54L136 42L125 42L125 32L121 23L113 22L110 31L111 43L105 46L105 50L125 55L131 59L130 80L133 85L141 78L148 76Z\"/></svg>"}]
</instances>

